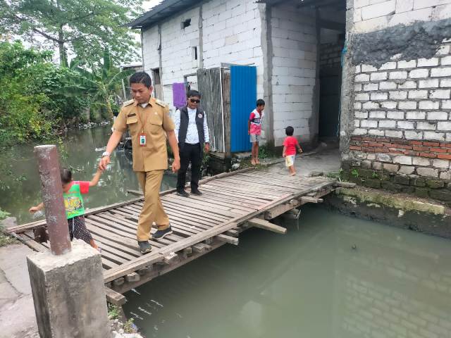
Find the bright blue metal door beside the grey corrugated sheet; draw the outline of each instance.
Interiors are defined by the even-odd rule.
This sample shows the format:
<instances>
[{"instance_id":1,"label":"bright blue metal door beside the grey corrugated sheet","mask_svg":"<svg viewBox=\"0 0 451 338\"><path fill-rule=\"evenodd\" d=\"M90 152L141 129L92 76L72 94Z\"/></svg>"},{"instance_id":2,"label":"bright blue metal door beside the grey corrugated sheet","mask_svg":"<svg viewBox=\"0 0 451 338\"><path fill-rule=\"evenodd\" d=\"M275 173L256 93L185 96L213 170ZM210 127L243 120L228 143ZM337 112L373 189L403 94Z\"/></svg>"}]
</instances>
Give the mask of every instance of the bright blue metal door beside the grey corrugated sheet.
<instances>
[{"instance_id":1,"label":"bright blue metal door beside the grey corrugated sheet","mask_svg":"<svg viewBox=\"0 0 451 338\"><path fill-rule=\"evenodd\" d=\"M257 68L250 65L230 66L230 148L249 151L247 121L257 101Z\"/></svg>"}]
</instances>

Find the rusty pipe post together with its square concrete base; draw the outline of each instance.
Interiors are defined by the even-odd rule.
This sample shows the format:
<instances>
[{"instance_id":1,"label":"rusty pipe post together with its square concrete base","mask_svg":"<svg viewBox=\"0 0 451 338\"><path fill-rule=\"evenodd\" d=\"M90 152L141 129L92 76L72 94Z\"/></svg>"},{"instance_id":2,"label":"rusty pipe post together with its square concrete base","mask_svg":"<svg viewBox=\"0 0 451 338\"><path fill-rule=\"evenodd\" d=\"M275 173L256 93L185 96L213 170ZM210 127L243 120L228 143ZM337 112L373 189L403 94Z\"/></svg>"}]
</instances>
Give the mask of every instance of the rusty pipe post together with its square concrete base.
<instances>
[{"instance_id":1,"label":"rusty pipe post together with its square concrete base","mask_svg":"<svg viewBox=\"0 0 451 338\"><path fill-rule=\"evenodd\" d=\"M101 256L81 240L70 244L56 146L35 154L51 248L27 256L39 337L109 338Z\"/></svg>"}]
</instances>

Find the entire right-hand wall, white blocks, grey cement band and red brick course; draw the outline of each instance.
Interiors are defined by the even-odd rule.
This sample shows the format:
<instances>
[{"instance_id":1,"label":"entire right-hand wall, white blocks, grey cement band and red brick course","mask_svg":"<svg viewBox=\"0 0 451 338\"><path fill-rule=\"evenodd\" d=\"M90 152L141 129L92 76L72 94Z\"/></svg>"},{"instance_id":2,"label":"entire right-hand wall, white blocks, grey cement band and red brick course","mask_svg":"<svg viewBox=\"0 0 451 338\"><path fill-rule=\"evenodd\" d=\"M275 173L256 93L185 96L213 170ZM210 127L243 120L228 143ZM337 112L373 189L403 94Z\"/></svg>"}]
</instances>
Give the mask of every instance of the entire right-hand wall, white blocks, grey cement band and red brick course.
<instances>
[{"instance_id":1,"label":"entire right-hand wall, white blocks, grey cement band and red brick course","mask_svg":"<svg viewBox=\"0 0 451 338\"><path fill-rule=\"evenodd\" d=\"M344 168L368 187L451 202L451 0L354 0L347 11Z\"/></svg>"}]
</instances>

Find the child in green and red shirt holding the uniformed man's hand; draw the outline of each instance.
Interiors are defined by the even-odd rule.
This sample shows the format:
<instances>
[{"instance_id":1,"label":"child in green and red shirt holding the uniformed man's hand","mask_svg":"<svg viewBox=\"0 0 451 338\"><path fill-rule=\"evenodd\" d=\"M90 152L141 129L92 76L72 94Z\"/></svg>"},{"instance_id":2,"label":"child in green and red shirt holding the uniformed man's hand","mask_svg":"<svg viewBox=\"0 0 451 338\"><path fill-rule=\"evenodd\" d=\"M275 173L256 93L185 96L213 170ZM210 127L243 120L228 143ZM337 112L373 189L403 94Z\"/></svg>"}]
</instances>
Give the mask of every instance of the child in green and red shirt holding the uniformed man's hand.
<instances>
[{"instance_id":1,"label":"child in green and red shirt holding the uniformed man's hand","mask_svg":"<svg viewBox=\"0 0 451 338\"><path fill-rule=\"evenodd\" d=\"M62 168L60 170L61 183L63 184L63 198L64 206L66 208L66 217L68 218L70 240L73 237L76 239L82 239L94 249L101 251L97 246L92 235L87 230L85 225L85 204L83 204L82 194L89 192L89 187L94 187L99 183L101 170L97 169L94 177L91 181L74 181L72 180L72 172L68 168ZM44 204L41 203L38 206L30 208L30 213L44 208Z\"/></svg>"}]
</instances>

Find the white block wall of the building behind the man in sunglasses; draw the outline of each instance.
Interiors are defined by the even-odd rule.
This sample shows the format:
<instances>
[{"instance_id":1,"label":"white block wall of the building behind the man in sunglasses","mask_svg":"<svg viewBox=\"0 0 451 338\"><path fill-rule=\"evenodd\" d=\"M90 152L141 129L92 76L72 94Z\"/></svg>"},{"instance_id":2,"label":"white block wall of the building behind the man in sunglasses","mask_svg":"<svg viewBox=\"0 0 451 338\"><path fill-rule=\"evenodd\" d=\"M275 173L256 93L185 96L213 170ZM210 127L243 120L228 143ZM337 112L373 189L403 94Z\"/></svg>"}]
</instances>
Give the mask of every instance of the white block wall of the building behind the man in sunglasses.
<instances>
[{"instance_id":1,"label":"white block wall of the building behind the man in sunglasses","mask_svg":"<svg viewBox=\"0 0 451 338\"><path fill-rule=\"evenodd\" d=\"M257 96L263 96L263 52L261 50L261 18L253 0L211 0L202 5L204 68L221 63L257 66ZM181 23L191 19L185 29ZM158 28L143 32L144 70L151 73L159 67ZM161 58L164 101L173 107L173 82L195 73L199 67L192 47L199 54L199 7L175 15L161 23Z\"/></svg>"}]
</instances>

